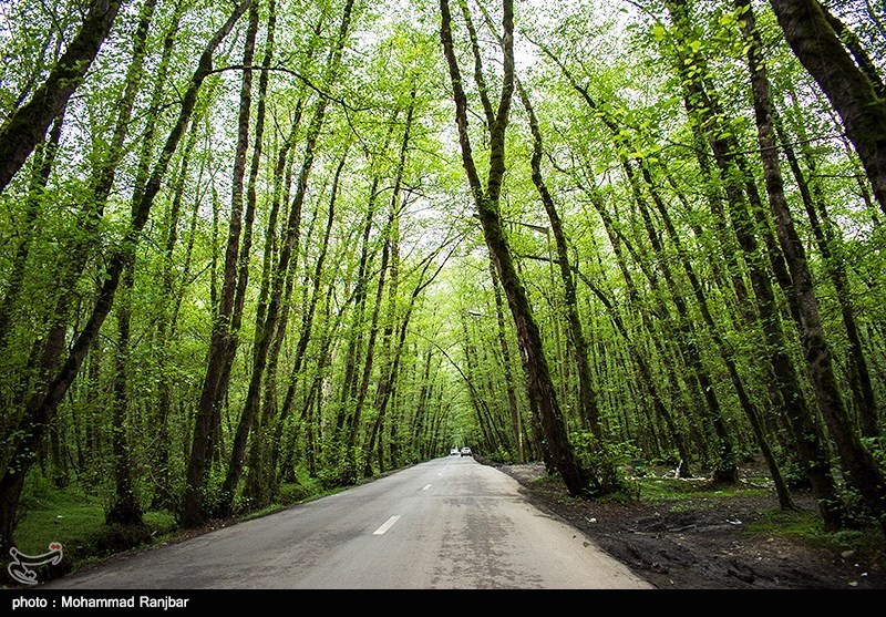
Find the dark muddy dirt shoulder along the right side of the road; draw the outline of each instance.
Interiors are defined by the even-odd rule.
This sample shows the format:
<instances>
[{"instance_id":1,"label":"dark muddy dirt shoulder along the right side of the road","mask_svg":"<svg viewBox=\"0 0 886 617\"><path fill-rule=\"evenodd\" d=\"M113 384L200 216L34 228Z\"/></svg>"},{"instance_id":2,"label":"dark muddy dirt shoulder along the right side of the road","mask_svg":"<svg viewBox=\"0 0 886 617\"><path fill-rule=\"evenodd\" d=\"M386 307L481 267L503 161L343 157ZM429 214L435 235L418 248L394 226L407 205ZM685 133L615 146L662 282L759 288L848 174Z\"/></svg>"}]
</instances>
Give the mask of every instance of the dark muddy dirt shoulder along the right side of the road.
<instances>
[{"instance_id":1,"label":"dark muddy dirt shoulder along the right side of the road","mask_svg":"<svg viewBox=\"0 0 886 617\"><path fill-rule=\"evenodd\" d=\"M571 498L544 465L503 465L527 498L594 539L660 589L886 589L886 543L869 554L749 529L776 496L692 502ZM544 479L544 480L542 480ZM801 508L814 508L795 494Z\"/></svg>"}]
</instances>

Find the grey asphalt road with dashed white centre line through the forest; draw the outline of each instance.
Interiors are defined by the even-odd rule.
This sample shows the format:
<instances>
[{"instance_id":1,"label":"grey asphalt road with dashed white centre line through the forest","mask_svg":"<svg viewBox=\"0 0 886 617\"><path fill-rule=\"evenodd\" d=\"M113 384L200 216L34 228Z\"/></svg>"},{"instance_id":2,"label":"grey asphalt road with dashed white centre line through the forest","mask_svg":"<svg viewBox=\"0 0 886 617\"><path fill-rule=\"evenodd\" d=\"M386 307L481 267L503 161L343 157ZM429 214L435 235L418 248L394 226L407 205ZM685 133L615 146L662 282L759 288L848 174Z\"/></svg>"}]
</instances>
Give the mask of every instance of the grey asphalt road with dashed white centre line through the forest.
<instances>
[{"instance_id":1,"label":"grey asphalt road with dashed white centre line through the forest","mask_svg":"<svg viewBox=\"0 0 886 617\"><path fill-rule=\"evenodd\" d=\"M41 587L653 588L518 489L472 457L435 459Z\"/></svg>"}]
</instances>

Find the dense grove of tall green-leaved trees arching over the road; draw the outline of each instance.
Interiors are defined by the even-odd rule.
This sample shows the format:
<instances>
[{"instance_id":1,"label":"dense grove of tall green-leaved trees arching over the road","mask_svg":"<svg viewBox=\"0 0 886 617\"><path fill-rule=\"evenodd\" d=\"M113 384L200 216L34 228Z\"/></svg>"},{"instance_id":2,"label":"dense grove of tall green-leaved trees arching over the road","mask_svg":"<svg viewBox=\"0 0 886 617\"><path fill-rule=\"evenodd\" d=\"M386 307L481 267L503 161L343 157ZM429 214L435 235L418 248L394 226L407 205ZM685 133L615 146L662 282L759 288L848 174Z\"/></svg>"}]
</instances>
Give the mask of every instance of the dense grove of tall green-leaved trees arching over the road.
<instances>
[{"instance_id":1,"label":"dense grove of tall green-leaved trees arching over the road","mask_svg":"<svg viewBox=\"0 0 886 617\"><path fill-rule=\"evenodd\" d=\"M0 552L470 445L886 532L883 0L12 0Z\"/></svg>"}]
</instances>

